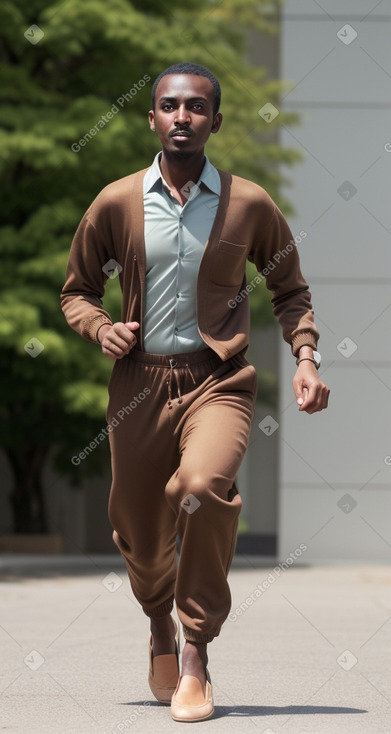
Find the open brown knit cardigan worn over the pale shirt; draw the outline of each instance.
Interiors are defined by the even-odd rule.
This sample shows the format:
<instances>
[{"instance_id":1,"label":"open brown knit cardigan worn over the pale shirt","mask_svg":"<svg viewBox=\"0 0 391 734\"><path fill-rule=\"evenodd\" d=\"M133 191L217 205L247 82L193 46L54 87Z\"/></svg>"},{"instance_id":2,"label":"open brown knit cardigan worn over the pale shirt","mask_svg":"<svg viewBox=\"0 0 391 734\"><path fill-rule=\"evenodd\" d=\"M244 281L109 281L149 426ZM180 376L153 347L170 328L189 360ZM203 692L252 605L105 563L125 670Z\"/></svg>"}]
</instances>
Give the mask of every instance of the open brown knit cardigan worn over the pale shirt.
<instances>
[{"instance_id":1,"label":"open brown knit cardigan worn over the pale shirt","mask_svg":"<svg viewBox=\"0 0 391 734\"><path fill-rule=\"evenodd\" d=\"M99 328L112 323L102 306L107 280L102 267L113 259L122 268L121 320L140 323L135 332L136 347L143 349L146 171L106 186L75 233L61 306L70 326L89 341L98 343ZM260 186L225 171L219 170L219 174L219 207L197 281L197 319L202 338L223 360L247 347L248 292L252 290L246 282L248 259L266 277L266 285L273 292L274 313L292 353L296 355L305 344L315 349L319 333L314 324L311 294L286 220Z\"/></svg>"}]
</instances>

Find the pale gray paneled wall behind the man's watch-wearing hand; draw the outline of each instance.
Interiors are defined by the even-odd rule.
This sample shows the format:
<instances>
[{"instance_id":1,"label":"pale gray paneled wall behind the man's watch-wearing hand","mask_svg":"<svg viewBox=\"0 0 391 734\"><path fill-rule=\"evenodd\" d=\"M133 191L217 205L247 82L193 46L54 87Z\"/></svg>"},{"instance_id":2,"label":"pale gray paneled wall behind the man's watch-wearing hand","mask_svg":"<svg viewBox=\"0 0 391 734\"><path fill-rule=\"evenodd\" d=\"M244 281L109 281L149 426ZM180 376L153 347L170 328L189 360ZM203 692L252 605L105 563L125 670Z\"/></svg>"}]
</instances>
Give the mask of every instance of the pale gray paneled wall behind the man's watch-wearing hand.
<instances>
[{"instance_id":1,"label":"pale gray paneled wall behind the man's watch-wearing hand","mask_svg":"<svg viewBox=\"0 0 391 734\"><path fill-rule=\"evenodd\" d=\"M342 12L343 6L343 12ZM322 9L323 8L323 9ZM321 331L327 412L299 414L281 346L280 556L391 558L390 6L288 0L281 76L305 156L286 190Z\"/></svg>"}]
</instances>

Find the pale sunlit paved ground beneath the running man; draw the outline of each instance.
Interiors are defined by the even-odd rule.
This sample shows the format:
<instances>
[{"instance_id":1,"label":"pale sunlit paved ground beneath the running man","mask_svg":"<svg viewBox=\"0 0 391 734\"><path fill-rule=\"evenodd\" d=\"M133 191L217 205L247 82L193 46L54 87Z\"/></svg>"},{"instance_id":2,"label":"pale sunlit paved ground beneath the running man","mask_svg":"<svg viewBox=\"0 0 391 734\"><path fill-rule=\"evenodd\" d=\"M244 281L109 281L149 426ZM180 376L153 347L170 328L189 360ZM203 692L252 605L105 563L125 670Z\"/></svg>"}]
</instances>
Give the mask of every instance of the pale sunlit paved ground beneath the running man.
<instances>
[{"instance_id":1,"label":"pale sunlit paved ground beneath the running man","mask_svg":"<svg viewBox=\"0 0 391 734\"><path fill-rule=\"evenodd\" d=\"M186 725L150 694L148 620L121 561L3 556L0 728L389 734L391 567L239 565L209 647L215 716Z\"/></svg>"}]
</instances>

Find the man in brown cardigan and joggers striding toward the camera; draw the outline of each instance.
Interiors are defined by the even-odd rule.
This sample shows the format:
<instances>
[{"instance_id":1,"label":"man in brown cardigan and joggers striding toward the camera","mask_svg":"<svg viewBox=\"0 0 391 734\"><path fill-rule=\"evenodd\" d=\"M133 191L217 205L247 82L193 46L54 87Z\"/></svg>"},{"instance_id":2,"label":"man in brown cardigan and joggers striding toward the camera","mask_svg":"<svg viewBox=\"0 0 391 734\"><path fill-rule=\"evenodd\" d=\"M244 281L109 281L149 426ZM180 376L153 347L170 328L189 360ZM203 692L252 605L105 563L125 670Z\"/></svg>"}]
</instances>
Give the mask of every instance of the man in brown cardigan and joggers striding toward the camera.
<instances>
[{"instance_id":1,"label":"man in brown cardigan and joggers striding toward the camera","mask_svg":"<svg viewBox=\"0 0 391 734\"><path fill-rule=\"evenodd\" d=\"M207 643L231 605L227 574L241 509L234 480L256 398L256 373L244 356L248 298L237 297L247 259L266 274L296 357L299 410L326 408L329 394L284 217L261 187L217 170L204 154L222 123L219 105L219 83L204 67L176 64L160 74L149 125L162 151L91 204L61 296L69 324L115 360L109 517L150 617L149 684L159 701L171 701L177 721L213 713ZM113 324L101 299L115 268L123 309ZM174 598L185 637L181 676Z\"/></svg>"}]
</instances>

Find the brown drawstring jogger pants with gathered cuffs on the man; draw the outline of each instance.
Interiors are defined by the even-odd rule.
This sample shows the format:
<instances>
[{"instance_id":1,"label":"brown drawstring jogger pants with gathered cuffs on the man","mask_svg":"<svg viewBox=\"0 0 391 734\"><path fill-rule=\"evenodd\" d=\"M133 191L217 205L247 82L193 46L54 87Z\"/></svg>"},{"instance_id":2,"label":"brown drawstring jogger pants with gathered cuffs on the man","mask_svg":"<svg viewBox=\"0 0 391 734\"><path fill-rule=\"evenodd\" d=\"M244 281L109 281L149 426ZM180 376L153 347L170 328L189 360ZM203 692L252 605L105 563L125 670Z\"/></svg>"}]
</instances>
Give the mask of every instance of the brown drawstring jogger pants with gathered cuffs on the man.
<instances>
[{"instance_id":1,"label":"brown drawstring jogger pants with gathered cuffs on the man","mask_svg":"<svg viewBox=\"0 0 391 734\"><path fill-rule=\"evenodd\" d=\"M227 575L257 377L241 352L131 350L109 383L109 519L133 593L149 617L175 599L184 637L211 642L231 607ZM181 538L176 567L176 535Z\"/></svg>"}]
</instances>

